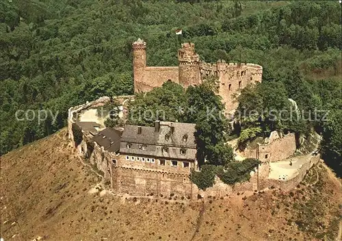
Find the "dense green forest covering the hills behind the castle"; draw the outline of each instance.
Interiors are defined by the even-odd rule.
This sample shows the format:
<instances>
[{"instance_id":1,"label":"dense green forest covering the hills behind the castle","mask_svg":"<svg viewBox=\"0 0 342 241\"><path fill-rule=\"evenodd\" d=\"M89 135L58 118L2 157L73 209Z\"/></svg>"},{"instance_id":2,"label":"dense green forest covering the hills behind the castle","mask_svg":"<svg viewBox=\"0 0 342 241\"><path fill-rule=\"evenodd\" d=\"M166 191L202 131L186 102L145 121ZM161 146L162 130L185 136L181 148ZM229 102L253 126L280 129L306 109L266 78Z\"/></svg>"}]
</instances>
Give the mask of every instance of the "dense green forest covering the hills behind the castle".
<instances>
[{"instance_id":1,"label":"dense green forest covering the hills behind the castle","mask_svg":"<svg viewBox=\"0 0 342 241\"><path fill-rule=\"evenodd\" d=\"M254 94L267 105L268 88L306 113L328 112L302 127L323 136L324 160L341 168L339 1L5 0L0 33L1 155L64 127L70 106L133 94L131 43L143 38L150 66L176 66L185 41L206 62L262 65ZM17 121L27 110L53 116Z\"/></svg>"}]
</instances>

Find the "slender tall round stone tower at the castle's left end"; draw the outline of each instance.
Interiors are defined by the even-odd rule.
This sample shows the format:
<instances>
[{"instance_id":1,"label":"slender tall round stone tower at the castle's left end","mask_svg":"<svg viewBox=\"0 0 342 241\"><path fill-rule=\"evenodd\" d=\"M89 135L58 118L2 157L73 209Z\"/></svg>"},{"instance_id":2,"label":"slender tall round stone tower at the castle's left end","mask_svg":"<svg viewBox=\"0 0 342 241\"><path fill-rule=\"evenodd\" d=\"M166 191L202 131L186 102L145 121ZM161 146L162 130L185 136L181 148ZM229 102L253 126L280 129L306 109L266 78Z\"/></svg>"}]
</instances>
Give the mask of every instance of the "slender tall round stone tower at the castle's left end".
<instances>
[{"instance_id":1,"label":"slender tall round stone tower at the castle's left end","mask_svg":"<svg viewBox=\"0 0 342 241\"><path fill-rule=\"evenodd\" d=\"M134 77L134 92L142 91L144 81L144 72L146 68L146 42L138 38L133 42L133 77Z\"/></svg>"}]
</instances>

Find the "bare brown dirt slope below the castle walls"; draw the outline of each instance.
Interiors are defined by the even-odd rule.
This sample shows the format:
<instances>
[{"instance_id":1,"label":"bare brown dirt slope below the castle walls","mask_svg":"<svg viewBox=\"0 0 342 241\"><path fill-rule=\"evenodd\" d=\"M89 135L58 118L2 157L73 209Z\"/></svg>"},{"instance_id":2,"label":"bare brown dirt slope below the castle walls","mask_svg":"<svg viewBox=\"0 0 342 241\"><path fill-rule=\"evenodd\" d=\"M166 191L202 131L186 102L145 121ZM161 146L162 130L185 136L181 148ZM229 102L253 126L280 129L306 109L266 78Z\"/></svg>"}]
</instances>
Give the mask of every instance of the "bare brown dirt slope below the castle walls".
<instances>
[{"instance_id":1,"label":"bare brown dirt slope below the castle walls","mask_svg":"<svg viewBox=\"0 0 342 241\"><path fill-rule=\"evenodd\" d=\"M270 190L206 203L125 199L95 189L100 182L68 146L65 129L4 155L1 238L334 240L339 232L341 183L323 164L292 192Z\"/></svg>"}]
</instances>

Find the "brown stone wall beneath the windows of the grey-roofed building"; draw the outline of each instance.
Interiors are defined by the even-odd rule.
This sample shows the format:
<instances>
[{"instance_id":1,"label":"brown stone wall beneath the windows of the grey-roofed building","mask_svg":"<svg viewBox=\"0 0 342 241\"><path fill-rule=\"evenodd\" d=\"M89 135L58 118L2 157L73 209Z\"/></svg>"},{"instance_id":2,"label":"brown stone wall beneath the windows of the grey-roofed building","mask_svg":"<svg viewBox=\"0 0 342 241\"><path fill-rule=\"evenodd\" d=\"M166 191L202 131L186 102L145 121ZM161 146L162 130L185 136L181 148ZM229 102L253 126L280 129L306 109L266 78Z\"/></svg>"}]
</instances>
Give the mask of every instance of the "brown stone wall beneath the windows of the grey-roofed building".
<instances>
[{"instance_id":1,"label":"brown stone wall beneath the windows of the grey-roofed building","mask_svg":"<svg viewBox=\"0 0 342 241\"><path fill-rule=\"evenodd\" d=\"M129 156L131 157L131 156ZM141 157L140 157L141 158ZM111 162L111 185L120 194L145 196L157 194L163 196L190 196L195 193L196 185L189 179L190 163L185 168L179 164L174 167L166 162L165 166L159 165L159 160L154 163L127 160L126 155L118 155L116 163Z\"/></svg>"}]
</instances>

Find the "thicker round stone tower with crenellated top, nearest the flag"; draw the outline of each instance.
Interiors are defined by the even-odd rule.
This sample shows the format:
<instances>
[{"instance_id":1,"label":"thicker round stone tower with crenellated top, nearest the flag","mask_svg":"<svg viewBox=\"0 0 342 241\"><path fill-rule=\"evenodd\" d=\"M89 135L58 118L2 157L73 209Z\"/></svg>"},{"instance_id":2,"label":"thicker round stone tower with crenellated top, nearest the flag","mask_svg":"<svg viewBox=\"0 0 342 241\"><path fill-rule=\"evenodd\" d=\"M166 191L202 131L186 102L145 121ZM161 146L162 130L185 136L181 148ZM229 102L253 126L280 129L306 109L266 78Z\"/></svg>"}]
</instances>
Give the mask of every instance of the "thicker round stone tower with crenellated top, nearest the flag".
<instances>
[{"instance_id":1,"label":"thicker round stone tower with crenellated top, nearest the flag","mask_svg":"<svg viewBox=\"0 0 342 241\"><path fill-rule=\"evenodd\" d=\"M195 53L195 45L185 42L178 51L179 84L187 88L200 84L200 56Z\"/></svg>"}]
</instances>

